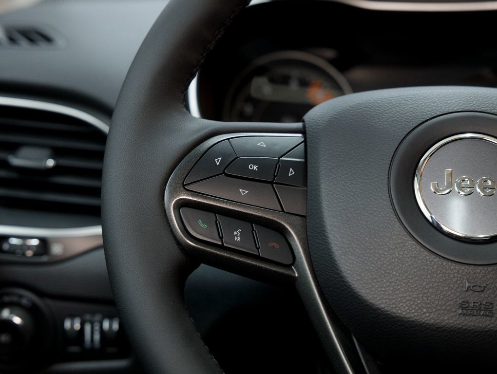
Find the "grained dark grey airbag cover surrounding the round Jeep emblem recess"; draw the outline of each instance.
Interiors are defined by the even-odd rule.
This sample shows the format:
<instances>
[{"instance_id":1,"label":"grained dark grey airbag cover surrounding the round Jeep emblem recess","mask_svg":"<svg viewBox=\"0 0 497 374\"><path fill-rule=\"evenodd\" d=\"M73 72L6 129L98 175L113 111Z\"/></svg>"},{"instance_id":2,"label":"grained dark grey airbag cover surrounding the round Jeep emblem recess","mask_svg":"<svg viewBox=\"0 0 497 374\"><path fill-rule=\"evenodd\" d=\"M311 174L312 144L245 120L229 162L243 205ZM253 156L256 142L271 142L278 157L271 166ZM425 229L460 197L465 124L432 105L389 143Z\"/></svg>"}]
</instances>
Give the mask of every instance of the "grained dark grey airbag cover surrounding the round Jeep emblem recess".
<instances>
[{"instance_id":1,"label":"grained dark grey airbag cover surrounding the round Jeep emblem recess","mask_svg":"<svg viewBox=\"0 0 497 374\"><path fill-rule=\"evenodd\" d=\"M410 131L444 113L495 114L496 98L496 89L478 87L371 91L333 99L304 118L313 266L331 307L377 357L496 360L495 316L458 313L462 300L496 305L497 267L425 249L398 219L389 193L392 158ZM466 291L466 279L487 288Z\"/></svg>"}]
</instances>

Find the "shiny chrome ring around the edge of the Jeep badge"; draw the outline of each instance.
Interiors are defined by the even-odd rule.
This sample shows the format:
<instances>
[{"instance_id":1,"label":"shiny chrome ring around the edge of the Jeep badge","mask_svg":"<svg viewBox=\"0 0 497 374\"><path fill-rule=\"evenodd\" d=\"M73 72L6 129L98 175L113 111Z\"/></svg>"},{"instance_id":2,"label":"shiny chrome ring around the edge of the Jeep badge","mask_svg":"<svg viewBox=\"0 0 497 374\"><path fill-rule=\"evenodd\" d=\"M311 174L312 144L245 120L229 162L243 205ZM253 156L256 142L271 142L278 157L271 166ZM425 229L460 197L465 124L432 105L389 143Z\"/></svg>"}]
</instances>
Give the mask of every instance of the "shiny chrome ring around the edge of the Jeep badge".
<instances>
[{"instance_id":1,"label":"shiny chrome ring around the edge of the Jeep badge","mask_svg":"<svg viewBox=\"0 0 497 374\"><path fill-rule=\"evenodd\" d=\"M497 146L497 139L488 135L484 134L474 134L474 133L466 133L466 134L459 134L459 135L454 135L449 138L446 138L444 140L441 140L437 144L435 144L433 147L431 147L429 150L424 153L424 155L421 157L421 160L419 161L417 168L416 168L416 173L414 175L414 195L416 196L416 201L417 205L419 206L419 209L423 213L424 217L433 224L436 228L438 228L440 231L445 232L446 234L456 237L458 239L463 239L463 240L470 240L470 241L482 241L482 240L489 240L497 235L497 232L491 234L491 235L468 235L468 234L461 234L460 232L454 231L450 229L449 227L445 226L444 224L441 224L440 222L437 221L437 219L431 214L430 210L426 206L426 203L423 198L423 193L421 191L421 178L423 175L424 168L426 167L426 164L428 163L428 160L430 157L440 148L443 146L455 142L456 140L461 140L461 139L479 139L479 140L485 140L487 142L493 143Z\"/></svg>"}]
</instances>

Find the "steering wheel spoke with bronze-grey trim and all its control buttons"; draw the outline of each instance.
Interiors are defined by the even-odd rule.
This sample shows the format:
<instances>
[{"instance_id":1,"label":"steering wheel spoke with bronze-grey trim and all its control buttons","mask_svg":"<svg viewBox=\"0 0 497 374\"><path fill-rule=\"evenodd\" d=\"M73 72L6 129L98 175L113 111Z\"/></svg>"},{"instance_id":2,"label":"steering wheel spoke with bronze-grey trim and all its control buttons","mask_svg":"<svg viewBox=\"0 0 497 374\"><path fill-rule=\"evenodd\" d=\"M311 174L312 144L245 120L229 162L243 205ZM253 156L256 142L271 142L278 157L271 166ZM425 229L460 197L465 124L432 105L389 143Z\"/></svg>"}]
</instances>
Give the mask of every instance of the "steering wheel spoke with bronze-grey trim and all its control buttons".
<instances>
[{"instance_id":1,"label":"steering wheel spoke with bronze-grey trim and all its control buttons","mask_svg":"<svg viewBox=\"0 0 497 374\"><path fill-rule=\"evenodd\" d=\"M293 284L330 362L340 373L362 373L353 340L323 301L312 270L303 124L209 122L223 134L185 156L165 191L181 248L204 264ZM290 200L285 188L296 191Z\"/></svg>"}]
</instances>

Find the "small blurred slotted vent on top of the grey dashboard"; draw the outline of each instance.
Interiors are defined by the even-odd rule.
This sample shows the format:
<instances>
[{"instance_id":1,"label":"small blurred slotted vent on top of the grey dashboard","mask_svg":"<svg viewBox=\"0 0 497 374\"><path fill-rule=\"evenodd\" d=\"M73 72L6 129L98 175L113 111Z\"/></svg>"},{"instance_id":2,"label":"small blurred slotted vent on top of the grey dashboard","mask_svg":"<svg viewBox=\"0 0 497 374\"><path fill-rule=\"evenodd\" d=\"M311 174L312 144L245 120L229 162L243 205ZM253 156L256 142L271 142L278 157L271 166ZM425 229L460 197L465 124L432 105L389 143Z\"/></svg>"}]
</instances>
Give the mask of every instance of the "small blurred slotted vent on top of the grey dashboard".
<instances>
[{"instance_id":1,"label":"small blurred slotted vent on top of the grey dashboard","mask_svg":"<svg viewBox=\"0 0 497 374\"><path fill-rule=\"evenodd\" d=\"M48 31L37 27L0 28L2 47L51 47L55 44L55 38Z\"/></svg>"}]
</instances>

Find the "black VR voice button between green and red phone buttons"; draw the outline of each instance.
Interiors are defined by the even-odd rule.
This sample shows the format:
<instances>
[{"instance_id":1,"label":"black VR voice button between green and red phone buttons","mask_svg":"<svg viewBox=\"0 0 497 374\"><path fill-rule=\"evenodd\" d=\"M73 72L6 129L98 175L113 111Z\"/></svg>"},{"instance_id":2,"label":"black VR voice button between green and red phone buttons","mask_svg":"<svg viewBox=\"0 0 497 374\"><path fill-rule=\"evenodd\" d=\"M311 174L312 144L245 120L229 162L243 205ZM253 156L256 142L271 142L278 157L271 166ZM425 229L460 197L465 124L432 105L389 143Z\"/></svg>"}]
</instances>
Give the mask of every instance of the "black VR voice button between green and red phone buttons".
<instances>
[{"instance_id":1,"label":"black VR voice button between green and red phone buttons","mask_svg":"<svg viewBox=\"0 0 497 374\"><path fill-rule=\"evenodd\" d=\"M223 244L240 251L259 254L255 246L252 225L234 218L219 216L218 220L223 232Z\"/></svg>"}]
</instances>

